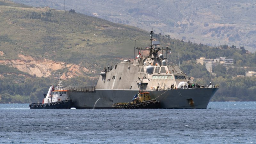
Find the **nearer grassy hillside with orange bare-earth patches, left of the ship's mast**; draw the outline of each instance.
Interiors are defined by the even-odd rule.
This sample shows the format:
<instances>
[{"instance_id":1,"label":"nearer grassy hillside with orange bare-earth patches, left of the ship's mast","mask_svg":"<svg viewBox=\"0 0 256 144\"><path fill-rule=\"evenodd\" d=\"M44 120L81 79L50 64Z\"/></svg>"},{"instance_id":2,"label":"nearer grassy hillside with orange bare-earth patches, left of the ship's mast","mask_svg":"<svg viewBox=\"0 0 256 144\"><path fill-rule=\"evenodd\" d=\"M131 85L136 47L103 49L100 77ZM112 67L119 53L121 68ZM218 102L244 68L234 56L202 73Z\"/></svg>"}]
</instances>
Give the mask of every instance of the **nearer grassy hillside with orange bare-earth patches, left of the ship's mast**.
<instances>
[{"instance_id":1,"label":"nearer grassy hillside with orange bare-earth patches, left of the ship's mast","mask_svg":"<svg viewBox=\"0 0 256 144\"><path fill-rule=\"evenodd\" d=\"M149 44L146 31L83 14L3 0L0 10L0 64L32 76L94 76L120 56L133 57L135 38Z\"/></svg>"}]
</instances>

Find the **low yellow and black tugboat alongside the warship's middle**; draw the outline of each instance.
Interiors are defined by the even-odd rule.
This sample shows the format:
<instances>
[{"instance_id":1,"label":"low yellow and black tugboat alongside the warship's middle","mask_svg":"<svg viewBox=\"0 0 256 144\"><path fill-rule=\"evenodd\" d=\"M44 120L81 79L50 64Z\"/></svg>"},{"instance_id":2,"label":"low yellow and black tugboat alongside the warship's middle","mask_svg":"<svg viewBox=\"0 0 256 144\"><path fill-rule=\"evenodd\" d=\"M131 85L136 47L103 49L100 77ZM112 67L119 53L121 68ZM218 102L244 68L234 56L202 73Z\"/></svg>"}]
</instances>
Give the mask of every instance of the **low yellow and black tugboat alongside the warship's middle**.
<instances>
[{"instance_id":1,"label":"low yellow and black tugboat alongside the warship's middle","mask_svg":"<svg viewBox=\"0 0 256 144\"><path fill-rule=\"evenodd\" d=\"M146 109L146 108L159 108L159 101L150 98L149 92L139 91L129 103L114 103L112 108L119 109Z\"/></svg>"}]
</instances>

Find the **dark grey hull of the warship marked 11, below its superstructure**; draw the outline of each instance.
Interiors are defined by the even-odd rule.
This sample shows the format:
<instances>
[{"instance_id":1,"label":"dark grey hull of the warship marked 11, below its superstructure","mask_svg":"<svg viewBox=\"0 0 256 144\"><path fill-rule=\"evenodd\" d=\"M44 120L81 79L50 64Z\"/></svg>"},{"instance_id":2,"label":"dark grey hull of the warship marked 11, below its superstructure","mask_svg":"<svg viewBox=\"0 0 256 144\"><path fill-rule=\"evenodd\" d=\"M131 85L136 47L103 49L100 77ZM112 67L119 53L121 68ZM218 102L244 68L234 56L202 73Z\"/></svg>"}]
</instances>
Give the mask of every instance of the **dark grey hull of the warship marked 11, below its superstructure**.
<instances>
[{"instance_id":1,"label":"dark grey hull of the warship marked 11, below its superstructure","mask_svg":"<svg viewBox=\"0 0 256 144\"><path fill-rule=\"evenodd\" d=\"M207 108L218 88L171 89L148 91L152 99L160 101L159 108ZM138 90L103 90L94 92L69 91L72 107L77 109L110 109L113 103L129 102Z\"/></svg>"}]
</instances>

